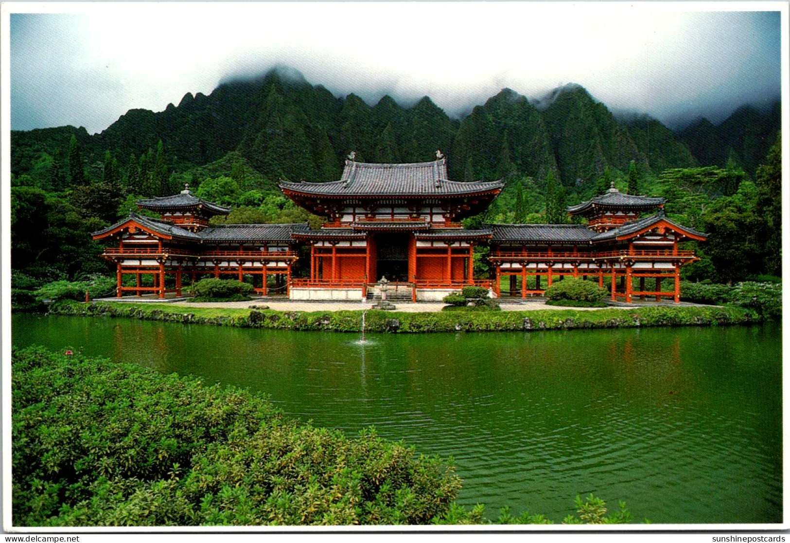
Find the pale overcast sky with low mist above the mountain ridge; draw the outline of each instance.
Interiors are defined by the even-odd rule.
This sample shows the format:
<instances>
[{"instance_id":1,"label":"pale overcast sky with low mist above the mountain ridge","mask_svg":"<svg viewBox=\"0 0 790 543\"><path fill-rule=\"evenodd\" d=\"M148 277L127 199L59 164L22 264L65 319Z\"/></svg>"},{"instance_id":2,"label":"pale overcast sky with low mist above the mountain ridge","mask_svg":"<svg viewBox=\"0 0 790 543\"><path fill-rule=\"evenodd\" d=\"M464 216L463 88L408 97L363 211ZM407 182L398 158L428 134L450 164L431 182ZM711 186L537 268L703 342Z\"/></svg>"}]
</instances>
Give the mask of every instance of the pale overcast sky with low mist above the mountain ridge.
<instances>
[{"instance_id":1,"label":"pale overcast sky with low mist above the mountain ridge","mask_svg":"<svg viewBox=\"0 0 790 543\"><path fill-rule=\"evenodd\" d=\"M374 104L388 93L408 105L427 95L453 116L503 87L538 98L571 82L613 110L670 125L720 122L741 104L777 99L779 13L690 6L137 3L12 13L11 127L100 132L129 109L162 111L277 64L336 96Z\"/></svg>"}]
</instances>

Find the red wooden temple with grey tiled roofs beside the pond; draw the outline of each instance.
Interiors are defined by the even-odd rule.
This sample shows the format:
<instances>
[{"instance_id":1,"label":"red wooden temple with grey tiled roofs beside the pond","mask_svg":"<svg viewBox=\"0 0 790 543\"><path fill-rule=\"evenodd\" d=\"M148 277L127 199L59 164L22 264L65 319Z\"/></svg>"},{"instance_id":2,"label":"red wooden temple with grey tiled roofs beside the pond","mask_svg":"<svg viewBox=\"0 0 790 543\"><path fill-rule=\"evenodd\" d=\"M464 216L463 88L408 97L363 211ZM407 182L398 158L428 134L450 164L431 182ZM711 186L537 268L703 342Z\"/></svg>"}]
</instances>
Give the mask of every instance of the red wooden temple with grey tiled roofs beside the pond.
<instances>
[{"instance_id":1,"label":"red wooden temple with grey tiled roofs beside the pond","mask_svg":"<svg viewBox=\"0 0 790 543\"><path fill-rule=\"evenodd\" d=\"M483 224L461 220L482 213L504 183L452 181L446 158L412 164L346 160L340 180L280 183L297 205L326 217L307 224L210 224L230 209L180 194L137 202L160 214L132 213L94 232L113 239L103 257L115 262L117 296L167 292L182 295L182 277L251 281L262 296L292 300L365 300L380 296L378 278L389 281L389 299L438 301L465 285L494 296L542 294L562 277L585 277L611 299L635 296L679 302L680 266L697 259L679 250L685 240L704 240L664 216L664 198L606 194L570 206L587 224ZM474 249L489 247L491 277L474 277ZM309 251L308 251L309 249ZM150 274L152 285L141 277ZM508 277L505 279L504 277ZM146 283L150 281L145 281ZM505 288L502 288L502 283ZM668 288L671 287L671 288Z\"/></svg>"}]
</instances>

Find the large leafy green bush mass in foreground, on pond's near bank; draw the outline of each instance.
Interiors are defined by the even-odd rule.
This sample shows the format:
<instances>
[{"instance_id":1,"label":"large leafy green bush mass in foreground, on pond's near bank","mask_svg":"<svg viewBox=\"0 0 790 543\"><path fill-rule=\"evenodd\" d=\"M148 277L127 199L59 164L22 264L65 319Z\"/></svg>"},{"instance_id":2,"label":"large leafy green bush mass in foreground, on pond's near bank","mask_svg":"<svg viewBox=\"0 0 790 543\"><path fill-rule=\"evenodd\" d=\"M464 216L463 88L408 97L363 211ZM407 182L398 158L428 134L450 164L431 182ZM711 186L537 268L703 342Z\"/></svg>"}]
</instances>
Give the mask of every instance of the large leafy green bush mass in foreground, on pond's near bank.
<instances>
[{"instance_id":1,"label":"large leafy green bush mass in foreground, on pond's near bank","mask_svg":"<svg viewBox=\"0 0 790 543\"><path fill-rule=\"evenodd\" d=\"M12 390L16 526L427 524L461 488L373 430L134 364L15 349Z\"/></svg>"}]
</instances>

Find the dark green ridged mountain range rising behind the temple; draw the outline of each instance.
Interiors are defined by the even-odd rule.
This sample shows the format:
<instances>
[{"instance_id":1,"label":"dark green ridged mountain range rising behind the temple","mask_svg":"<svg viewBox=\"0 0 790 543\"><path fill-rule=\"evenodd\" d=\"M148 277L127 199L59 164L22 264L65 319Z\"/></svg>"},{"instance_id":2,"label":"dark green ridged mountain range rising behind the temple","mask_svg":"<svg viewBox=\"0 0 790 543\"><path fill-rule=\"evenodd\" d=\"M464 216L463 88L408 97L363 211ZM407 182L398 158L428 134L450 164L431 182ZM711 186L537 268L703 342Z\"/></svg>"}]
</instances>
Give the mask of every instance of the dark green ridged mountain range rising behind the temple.
<instances>
[{"instance_id":1,"label":"dark green ridged mountain range rising behind the temple","mask_svg":"<svg viewBox=\"0 0 790 543\"><path fill-rule=\"evenodd\" d=\"M173 172L236 153L272 183L330 181L351 151L368 162L419 162L441 149L453 179L540 180L551 170L567 187L584 190L606 168L624 172L631 160L656 174L735 160L753 174L780 124L778 103L766 112L744 106L723 123L701 119L676 134L647 115L615 115L575 84L539 100L502 89L455 119L428 96L404 105L385 95L371 104L354 93L334 96L279 66L223 81L209 95L186 93L164 111L132 109L100 134L73 127L13 131L12 172L30 175L74 134L93 168L107 150L125 163L161 140Z\"/></svg>"}]
</instances>

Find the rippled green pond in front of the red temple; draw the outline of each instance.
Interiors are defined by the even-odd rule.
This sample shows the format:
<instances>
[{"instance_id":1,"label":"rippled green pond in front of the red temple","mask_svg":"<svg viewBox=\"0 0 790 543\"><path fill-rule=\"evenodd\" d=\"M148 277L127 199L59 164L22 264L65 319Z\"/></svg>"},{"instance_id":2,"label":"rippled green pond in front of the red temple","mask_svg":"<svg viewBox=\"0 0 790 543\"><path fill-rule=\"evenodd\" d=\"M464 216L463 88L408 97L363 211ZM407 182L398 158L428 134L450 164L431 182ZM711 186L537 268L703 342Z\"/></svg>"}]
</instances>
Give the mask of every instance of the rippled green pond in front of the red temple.
<instances>
[{"instance_id":1,"label":"rippled green pond in front of the red temple","mask_svg":"<svg viewBox=\"0 0 790 543\"><path fill-rule=\"evenodd\" d=\"M269 394L454 458L459 502L559 522L578 494L652 522L781 522L781 326L492 334L250 330L13 315L13 343Z\"/></svg>"}]
</instances>

